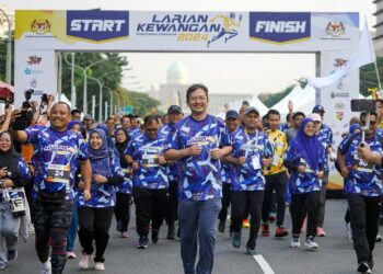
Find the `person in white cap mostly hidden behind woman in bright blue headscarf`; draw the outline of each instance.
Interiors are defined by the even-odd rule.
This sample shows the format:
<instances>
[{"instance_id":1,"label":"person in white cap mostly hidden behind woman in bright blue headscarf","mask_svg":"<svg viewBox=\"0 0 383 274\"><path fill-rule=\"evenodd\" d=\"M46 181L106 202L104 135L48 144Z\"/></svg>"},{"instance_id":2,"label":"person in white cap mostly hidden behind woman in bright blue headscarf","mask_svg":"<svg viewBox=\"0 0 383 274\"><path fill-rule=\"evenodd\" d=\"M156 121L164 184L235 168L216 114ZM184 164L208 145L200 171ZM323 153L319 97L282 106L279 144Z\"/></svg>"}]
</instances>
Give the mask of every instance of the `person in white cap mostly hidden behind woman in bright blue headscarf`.
<instances>
[{"instance_id":1,"label":"person in white cap mostly hidden behind woman in bright blue headscarf","mask_svg":"<svg viewBox=\"0 0 383 274\"><path fill-rule=\"evenodd\" d=\"M325 151L327 155L327 160L334 161L336 156L334 153L333 149L333 130L323 123L324 121L324 114L325 110L322 105L315 105L313 109L313 114L318 114L321 116L321 121L316 121L316 123L321 123L320 125L320 132L317 133L317 139L323 144L325 147ZM326 203L326 190L327 190L327 183L328 183L328 164L325 163L325 174L322 179L322 191L321 191L321 204L320 204L320 214L317 218L317 226L316 226L316 236L317 237L325 237L326 232L323 229L323 222L325 219L325 203Z\"/></svg>"}]
</instances>

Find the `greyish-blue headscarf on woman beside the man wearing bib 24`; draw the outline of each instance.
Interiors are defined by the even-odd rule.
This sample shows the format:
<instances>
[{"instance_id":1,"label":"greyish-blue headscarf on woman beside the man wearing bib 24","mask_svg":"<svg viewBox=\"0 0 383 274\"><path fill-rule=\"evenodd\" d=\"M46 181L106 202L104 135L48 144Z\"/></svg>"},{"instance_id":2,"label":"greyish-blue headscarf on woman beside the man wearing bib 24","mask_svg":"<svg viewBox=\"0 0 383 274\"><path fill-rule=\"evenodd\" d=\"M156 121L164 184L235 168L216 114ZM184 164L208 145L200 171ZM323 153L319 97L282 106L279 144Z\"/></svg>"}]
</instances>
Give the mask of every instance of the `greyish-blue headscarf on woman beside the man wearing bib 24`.
<instances>
[{"instance_id":1,"label":"greyish-blue headscarf on woman beside the man wearing bib 24","mask_svg":"<svg viewBox=\"0 0 383 274\"><path fill-rule=\"evenodd\" d=\"M92 173L107 176L111 170L111 150L107 146L107 138L104 130L94 128L90 132L90 138L93 133L97 133L103 141L103 145L98 149L89 146L89 159L92 165Z\"/></svg>"}]
</instances>

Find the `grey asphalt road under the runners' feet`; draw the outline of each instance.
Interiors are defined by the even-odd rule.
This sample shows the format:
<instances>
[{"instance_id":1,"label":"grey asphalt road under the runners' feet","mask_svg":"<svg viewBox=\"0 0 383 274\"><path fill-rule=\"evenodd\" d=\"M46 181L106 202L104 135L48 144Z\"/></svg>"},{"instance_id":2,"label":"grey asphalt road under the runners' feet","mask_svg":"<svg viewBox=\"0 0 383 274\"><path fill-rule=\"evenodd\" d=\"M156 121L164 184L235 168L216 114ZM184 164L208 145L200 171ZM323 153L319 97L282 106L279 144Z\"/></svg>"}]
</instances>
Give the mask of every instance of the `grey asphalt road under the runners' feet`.
<instances>
[{"instance_id":1,"label":"grey asphalt road under the runners' feet","mask_svg":"<svg viewBox=\"0 0 383 274\"><path fill-rule=\"evenodd\" d=\"M325 228L327 236L318 238L321 248L318 251L306 251L291 249L290 238L277 240L274 237L259 236L257 252L265 259L266 264L272 270L263 271L259 263L251 255L245 254L245 244L239 250L231 246L228 232L218 233L216 246L216 261L213 273L217 274L249 274L249 273L282 273L282 274L350 274L357 273L357 259L352 243L345 233L344 214L346 210L345 201L328 201L326 207ZM287 213L286 225L290 226L290 215ZM178 274L183 273L179 258L178 241L165 239L166 226L161 230L161 238L156 244L150 246L147 250L137 250L138 241L135 219L129 225L128 239L119 238L115 231L115 224L111 228L111 240L106 250L105 273L131 273L131 274ZM275 225L271 225L274 235ZM383 229L382 229L383 232ZM244 230L244 240L248 229ZM80 255L80 244L77 241L76 251ZM374 251L374 273L383 274L383 244L376 243ZM92 269L80 271L79 259L68 260L65 273L95 273ZM2 273L39 273L39 262L34 250L34 236L31 236L27 243L19 244L19 258L10 263ZM93 266L93 264L91 265ZM100 272L97 272L100 273Z\"/></svg>"}]
</instances>

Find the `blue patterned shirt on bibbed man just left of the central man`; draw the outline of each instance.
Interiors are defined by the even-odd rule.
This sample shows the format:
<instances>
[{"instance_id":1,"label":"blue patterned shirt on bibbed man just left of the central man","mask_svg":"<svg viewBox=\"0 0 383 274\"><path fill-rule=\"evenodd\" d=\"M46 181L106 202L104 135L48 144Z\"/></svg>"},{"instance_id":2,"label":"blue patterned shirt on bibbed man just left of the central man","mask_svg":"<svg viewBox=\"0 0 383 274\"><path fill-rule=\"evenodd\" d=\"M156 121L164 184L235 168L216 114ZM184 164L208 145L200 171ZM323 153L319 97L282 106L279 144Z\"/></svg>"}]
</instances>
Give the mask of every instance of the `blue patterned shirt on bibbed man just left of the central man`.
<instances>
[{"instance_id":1,"label":"blue patterned shirt on bibbed man just left of the central man","mask_svg":"<svg viewBox=\"0 0 383 274\"><path fill-rule=\"evenodd\" d=\"M169 180L166 164L159 163L159 157L163 156L169 142L163 135L151 140L146 134L141 134L131 140L126 151L135 162L139 164L134 171L134 186L142 189L167 189Z\"/></svg>"}]
</instances>

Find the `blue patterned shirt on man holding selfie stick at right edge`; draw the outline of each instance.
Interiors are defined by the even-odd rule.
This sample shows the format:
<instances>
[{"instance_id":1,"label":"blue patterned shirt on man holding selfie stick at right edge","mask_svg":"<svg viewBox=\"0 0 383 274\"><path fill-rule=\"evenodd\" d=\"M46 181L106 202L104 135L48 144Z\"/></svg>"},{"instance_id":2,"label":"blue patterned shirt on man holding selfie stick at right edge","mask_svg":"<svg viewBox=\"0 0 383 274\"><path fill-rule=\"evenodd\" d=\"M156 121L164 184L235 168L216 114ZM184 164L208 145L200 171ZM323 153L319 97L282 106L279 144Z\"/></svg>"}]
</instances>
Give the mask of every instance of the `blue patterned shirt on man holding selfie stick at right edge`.
<instances>
[{"instance_id":1,"label":"blue patterned shirt on man holding selfie stick at right edge","mask_svg":"<svg viewBox=\"0 0 383 274\"><path fill-rule=\"evenodd\" d=\"M382 170L374 164L367 163L358 156L358 147L362 140L361 134L348 136L339 145L339 151L345 156L346 167L349 174L345 179L345 192L360 194L363 196L382 195ZM383 149L379 137L375 135L372 139L365 139L371 151L383 155Z\"/></svg>"}]
</instances>

